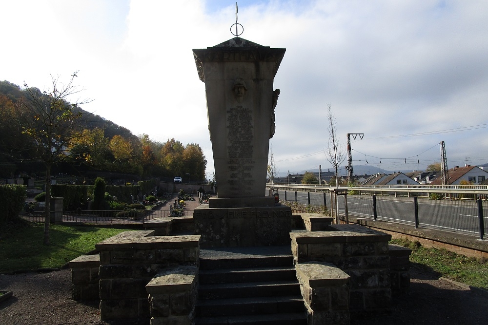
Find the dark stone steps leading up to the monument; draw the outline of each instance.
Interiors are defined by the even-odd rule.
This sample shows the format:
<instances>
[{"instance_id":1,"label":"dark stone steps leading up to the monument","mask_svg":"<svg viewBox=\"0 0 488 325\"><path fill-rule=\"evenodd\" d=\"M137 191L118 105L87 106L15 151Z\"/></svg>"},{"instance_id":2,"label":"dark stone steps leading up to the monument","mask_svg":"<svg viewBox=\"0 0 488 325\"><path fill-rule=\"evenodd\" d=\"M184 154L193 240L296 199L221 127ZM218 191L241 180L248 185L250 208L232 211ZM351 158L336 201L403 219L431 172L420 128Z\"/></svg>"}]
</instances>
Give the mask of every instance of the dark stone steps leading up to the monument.
<instances>
[{"instance_id":1,"label":"dark stone steps leading up to the monument","mask_svg":"<svg viewBox=\"0 0 488 325\"><path fill-rule=\"evenodd\" d=\"M306 325L290 246L201 249L197 290L197 325Z\"/></svg>"}]
</instances>

